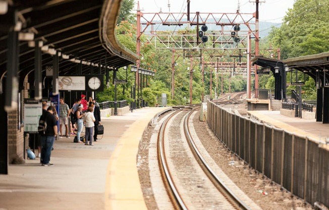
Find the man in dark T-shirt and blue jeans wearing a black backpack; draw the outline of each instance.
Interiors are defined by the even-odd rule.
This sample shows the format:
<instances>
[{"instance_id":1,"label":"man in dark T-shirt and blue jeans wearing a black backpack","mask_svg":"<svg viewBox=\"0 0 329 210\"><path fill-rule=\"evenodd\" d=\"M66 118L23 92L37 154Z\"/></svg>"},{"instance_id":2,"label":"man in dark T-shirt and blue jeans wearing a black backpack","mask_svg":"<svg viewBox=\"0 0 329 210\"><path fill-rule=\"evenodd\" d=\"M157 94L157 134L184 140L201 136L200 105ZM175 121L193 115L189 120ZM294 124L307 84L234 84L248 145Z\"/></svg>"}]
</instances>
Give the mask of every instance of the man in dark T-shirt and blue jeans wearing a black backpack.
<instances>
[{"instance_id":1,"label":"man in dark T-shirt and blue jeans wearing a black backpack","mask_svg":"<svg viewBox=\"0 0 329 210\"><path fill-rule=\"evenodd\" d=\"M42 166L52 166L50 164L51 149L55 137L57 136L57 121L54 113L56 109L53 106L48 107L47 112L43 113L39 120L38 131L42 139L41 164Z\"/></svg>"}]
</instances>

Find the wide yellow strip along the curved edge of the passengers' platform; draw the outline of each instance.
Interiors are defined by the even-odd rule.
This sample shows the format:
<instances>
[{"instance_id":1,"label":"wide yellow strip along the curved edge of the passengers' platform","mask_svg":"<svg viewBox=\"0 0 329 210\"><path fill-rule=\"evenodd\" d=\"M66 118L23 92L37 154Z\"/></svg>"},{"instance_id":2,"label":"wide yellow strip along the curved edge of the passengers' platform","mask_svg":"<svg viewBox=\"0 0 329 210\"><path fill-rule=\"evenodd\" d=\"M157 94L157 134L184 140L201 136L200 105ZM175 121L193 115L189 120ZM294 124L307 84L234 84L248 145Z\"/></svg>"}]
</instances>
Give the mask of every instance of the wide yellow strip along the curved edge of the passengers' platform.
<instances>
[{"instance_id":1,"label":"wide yellow strip along the curved edge of the passengers' platform","mask_svg":"<svg viewBox=\"0 0 329 210\"><path fill-rule=\"evenodd\" d=\"M147 209L137 171L138 145L157 113L168 108L144 109L121 136L106 171L105 209Z\"/></svg>"}]
</instances>

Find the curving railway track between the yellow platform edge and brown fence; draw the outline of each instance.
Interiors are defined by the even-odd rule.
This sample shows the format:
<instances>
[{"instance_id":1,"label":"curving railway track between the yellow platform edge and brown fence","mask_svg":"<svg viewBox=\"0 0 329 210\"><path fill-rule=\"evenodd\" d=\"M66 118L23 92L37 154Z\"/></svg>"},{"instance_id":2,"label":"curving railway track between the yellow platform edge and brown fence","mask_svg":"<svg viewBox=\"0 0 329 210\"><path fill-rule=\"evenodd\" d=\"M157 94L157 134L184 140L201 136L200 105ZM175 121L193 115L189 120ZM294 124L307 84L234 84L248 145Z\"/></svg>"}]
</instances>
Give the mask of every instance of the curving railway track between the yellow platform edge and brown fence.
<instances>
[{"instance_id":1,"label":"curving railway track between the yellow platform edge and brown fence","mask_svg":"<svg viewBox=\"0 0 329 210\"><path fill-rule=\"evenodd\" d=\"M163 121L157 140L160 174L174 208L251 209L226 186L199 151L189 126L191 115L199 108L177 109Z\"/></svg>"}]
</instances>

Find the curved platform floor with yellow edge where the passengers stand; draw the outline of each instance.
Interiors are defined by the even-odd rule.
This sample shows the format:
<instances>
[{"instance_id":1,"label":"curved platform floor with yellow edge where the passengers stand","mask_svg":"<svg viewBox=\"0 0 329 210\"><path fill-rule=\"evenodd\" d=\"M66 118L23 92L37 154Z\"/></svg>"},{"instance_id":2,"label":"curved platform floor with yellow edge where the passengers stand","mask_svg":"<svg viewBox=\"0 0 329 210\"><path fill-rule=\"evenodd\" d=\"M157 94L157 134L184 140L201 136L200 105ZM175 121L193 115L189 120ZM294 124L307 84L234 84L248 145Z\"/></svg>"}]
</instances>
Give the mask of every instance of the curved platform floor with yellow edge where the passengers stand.
<instances>
[{"instance_id":1,"label":"curved platform floor with yellow edge where the passengers stand","mask_svg":"<svg viewBox=\"0 0 329 210\"><path fill-rule=\"evenodd\" d=\"M101 118L104 135L94 146L73 143L74 136L55 141L54 166L41 166L38 158L10 165L9 174L0 175L0 209L146 209L138 144L149 122L166 109Z\"/></svg>"}]
</instances>

